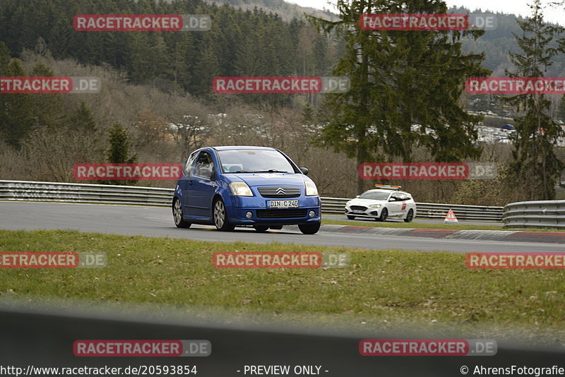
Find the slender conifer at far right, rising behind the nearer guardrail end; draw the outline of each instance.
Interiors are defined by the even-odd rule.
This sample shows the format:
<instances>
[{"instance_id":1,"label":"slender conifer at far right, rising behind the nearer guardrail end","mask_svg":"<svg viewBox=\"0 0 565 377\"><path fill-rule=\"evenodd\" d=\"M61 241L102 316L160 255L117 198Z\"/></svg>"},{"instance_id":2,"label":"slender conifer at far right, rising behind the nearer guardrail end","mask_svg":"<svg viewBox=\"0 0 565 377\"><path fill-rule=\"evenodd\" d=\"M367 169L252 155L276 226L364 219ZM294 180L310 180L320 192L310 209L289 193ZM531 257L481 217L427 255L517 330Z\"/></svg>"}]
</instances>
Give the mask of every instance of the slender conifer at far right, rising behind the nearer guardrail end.
<instances>
[{"instance_id":1,"label":"slender conifer at far right, rising behind the nearer guardrail end","mask_svg":"<svg viewBox=\"0 0 565 377\"><path fill-rule=\"evenodd\" d=\"M532 16L517 20L523 32L514 36L522 52L510 54L516 66L514 72L507 71L510 77L542 77L560 52L554 42L563 28L545 24L540 0L534 0L530 8ZM551 101L542 93L515 95L506 101L525 113L514 118L516 136L509 167L513 187L519 188L517 193L521 193L522 200L552 200L565 164L554 152L563 131L549 113Z\"/></svg>"}]
</instances>

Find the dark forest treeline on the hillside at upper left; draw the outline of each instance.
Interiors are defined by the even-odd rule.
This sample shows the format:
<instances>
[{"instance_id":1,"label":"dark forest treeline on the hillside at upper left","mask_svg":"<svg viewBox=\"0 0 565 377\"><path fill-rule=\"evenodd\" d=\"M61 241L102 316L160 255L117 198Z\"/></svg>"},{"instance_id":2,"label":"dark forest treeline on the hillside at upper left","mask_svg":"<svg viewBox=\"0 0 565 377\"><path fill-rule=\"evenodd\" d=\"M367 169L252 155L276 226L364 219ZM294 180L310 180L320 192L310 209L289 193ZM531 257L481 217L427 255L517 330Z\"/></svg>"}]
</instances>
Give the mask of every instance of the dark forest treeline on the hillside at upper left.
<instances>
[{"instance_id":1,"label":"dark forest treeline on the hillside at upper left","mask_svg":"<svg viewBox=\"0 0 565 377\"><path fill-rule=\"evenodd\" d=\"M77 32L79 14L206 14L208 32ZM55 59L109 64L132 83L211 95L215 76L328 76L335 46L305 20L285 22L260 9L243 11L201 0L3 0L0 42L20 57L42 38ZM246 96L290 104L290 96Z\"/></svg>"}]
</instances>

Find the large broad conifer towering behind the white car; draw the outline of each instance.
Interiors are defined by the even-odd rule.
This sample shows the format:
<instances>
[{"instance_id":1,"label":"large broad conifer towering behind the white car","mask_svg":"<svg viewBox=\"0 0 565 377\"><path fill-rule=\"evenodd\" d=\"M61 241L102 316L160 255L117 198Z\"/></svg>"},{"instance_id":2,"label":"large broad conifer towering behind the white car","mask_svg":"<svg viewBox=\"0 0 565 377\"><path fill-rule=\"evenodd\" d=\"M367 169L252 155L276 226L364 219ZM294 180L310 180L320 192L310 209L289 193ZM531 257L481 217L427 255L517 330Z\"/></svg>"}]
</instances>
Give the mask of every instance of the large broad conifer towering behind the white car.
<instances>
[{"instance_id":1,"label":"large broad conifer towering behind the white car","mask_svg":"<svg viewBox=\"0 0 565 377\"><path fill-rule=\"evenodd\" d=\"M424 145L438 162L477 157L478 121L458 102L465 79L485 76L483 54L463 54L461 38L480 30L362 30L365 13L447 13L443 1L338 0L340 20L309 17L327 34L344 36L345 54L334 76L349 76L350 91L328 95L329 124L320 142L355 157L357 163L412 160ZM420 133L412 132L417 125ZM424 133L431 128L432 133ZM364 182L357 179L357 191Z\"/></svg>"}]
</instances>

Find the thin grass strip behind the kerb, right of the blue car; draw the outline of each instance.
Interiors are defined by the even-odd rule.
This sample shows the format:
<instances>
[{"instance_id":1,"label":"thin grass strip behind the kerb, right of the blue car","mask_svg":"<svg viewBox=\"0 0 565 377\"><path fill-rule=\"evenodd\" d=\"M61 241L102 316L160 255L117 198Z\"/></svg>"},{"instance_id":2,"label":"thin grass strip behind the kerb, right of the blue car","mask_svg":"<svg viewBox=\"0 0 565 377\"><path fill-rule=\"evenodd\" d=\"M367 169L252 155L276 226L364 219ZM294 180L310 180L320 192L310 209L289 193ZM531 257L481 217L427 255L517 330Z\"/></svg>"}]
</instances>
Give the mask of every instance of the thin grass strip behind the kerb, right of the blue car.
<instances>
[{"instance_id":1,"label":"thin grass strip behind the kerb, right of the blue car","mask_svg":"<svg viewBox=\"0 0 565 377\"><path fill-rule=\"evenodd\" d=\"M327 215L335 215L327 214ZM350 225L355 227L376 227L376 228L408 228L408 229L456 229L456 230L508 230L508 231L519 231L519 232L565 232L561 229L551 229L551 228L503 228L497 225L488 225L486 222L484 225L469 225L469 224L443 224L437 222L434 224L423 223L423 222L375 222L375 221L360 221L351 222L349 220L332 220L324 218L322 214L322 224L326 225Z\"/></svg>"}]
</instances>

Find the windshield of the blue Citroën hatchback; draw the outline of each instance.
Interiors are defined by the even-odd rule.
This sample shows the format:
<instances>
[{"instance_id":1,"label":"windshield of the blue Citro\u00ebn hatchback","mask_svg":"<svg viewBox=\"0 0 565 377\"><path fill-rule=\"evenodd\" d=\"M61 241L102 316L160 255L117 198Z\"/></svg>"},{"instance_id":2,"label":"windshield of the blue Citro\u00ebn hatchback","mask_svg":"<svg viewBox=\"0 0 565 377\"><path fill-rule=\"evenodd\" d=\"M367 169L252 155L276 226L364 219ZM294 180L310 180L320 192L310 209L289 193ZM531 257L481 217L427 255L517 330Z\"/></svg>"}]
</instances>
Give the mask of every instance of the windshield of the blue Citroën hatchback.
<instances>
[{"instance_id":1,"label":"windshield of the blue Citro\u00ebn hatchback","mask_svg":"<svg viewBox=\"0 0 565 377\"><path fill-rule=\"evenodd\" d=\"M234 149L218 151L225 173L294 173L295 169L277 150Z\"/></svg>"}]
</instances>

